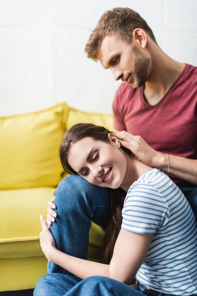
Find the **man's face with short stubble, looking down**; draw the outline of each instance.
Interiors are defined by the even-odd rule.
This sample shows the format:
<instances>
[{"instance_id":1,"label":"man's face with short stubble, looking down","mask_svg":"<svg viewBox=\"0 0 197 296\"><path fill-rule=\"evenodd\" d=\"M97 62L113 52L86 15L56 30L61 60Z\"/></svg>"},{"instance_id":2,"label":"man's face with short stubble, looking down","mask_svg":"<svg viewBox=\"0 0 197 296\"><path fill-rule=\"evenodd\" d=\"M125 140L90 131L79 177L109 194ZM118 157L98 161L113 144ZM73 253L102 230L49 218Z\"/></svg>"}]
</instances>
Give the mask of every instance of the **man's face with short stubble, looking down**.
<instances>
[{"instance_id":1,"label":"man's face with short stubble, looking down","mask_svg":"<svg viewBox=\"0 0 197 296\"><path fill-rule=\"evenodd\" d=\"M134 43L106 36L99 47L98 59L105 69L110 68L115 80L122 79L134 88L144 85L148 78L150 58Z\"/></svg>"}]
</instances>

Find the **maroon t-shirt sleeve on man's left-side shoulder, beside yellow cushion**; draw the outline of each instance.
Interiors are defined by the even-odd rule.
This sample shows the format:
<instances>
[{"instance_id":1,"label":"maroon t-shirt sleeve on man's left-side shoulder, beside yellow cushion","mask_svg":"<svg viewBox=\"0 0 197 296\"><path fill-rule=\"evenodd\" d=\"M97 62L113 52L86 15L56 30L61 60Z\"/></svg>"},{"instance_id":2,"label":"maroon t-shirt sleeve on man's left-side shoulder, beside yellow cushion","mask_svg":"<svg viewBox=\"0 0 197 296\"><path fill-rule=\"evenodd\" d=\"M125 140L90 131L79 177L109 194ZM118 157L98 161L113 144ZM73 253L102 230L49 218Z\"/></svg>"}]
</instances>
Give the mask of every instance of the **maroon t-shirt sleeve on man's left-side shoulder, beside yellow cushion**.
<instances>
[{"instance_id":1,"label":"maroon t-shirt sleeve on man's left-side shoulder, beside yellow cushion","mask_svg":"<svg viewBox=\"0 0 197 296\"><path fill-rule=\"evenodd\" d=\"M119 87L118 90L116 91L114 102L113 102L114 129L117 131L126 131L123 111L121 111L120 96L121 96L121 87Z\"/></svg>"}]
</instances>

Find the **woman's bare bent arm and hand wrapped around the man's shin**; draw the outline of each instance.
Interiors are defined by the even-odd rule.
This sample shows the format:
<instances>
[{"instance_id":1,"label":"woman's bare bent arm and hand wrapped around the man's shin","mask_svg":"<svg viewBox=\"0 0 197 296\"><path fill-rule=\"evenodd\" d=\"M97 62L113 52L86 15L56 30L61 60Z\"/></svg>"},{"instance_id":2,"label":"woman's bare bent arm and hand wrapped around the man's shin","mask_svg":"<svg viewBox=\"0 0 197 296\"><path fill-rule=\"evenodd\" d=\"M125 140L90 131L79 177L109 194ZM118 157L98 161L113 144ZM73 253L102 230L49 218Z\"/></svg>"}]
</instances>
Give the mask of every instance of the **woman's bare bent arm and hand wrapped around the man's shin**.
<instances>
[{"instance_id":1,"label":"woman's bare bent arm and hand wrapped around the man's shin","mask_svg":"<svg viewBox=\"0 0 197 296\"><path fill-rule=\"evenodd\" d=\"M102 275L129 284L149 250L152 235L121 229L109 265L66 255L51 245L51 232L46 221L41 220L40 245L48 260L58 264L75 276L85 279Z\"/></svg>"}]
</instances>

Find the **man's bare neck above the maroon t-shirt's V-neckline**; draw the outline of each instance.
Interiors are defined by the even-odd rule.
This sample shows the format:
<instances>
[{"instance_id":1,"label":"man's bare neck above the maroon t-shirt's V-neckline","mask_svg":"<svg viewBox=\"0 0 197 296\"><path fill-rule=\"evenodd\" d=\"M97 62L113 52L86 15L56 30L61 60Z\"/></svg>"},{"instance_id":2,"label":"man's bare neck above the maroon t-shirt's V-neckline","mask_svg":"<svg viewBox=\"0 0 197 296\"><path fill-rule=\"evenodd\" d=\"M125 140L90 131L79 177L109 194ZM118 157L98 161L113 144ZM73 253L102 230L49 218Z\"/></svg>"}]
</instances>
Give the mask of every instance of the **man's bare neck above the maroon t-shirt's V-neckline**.
<instances>
[{"instance_id":1,"label":"man's bare neck above the maroon t-shirt's V-neckline","mask_svg":"<svg viewBox=\"0 0 197 296\"><path fill-rule=\"evenodd\" d=\"M183 72L185 64L167 56L160 48L153 48L151 73L144 87L144 100L149 105L159 103Z\"/></svg>"}]
</instances>

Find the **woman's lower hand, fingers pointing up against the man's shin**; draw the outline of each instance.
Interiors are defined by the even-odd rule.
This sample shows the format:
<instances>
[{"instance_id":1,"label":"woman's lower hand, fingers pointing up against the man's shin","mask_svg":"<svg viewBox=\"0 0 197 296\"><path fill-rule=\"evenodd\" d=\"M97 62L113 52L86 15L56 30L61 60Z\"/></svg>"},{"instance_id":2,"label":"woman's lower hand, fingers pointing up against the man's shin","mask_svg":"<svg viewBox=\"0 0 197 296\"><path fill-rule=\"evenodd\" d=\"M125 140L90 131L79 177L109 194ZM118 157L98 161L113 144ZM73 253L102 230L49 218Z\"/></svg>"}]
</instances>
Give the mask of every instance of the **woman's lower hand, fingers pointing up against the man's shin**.
<instances>
[{"instance_id":1,"label":"woman's lower hand, fingers pointing up against the man's shin","mask_svg":"<svg viewBox=\"0 0 197 296\"><path fill-rule=\"evenodd\" d=\"M42 231L40 232L40 247L47 258L47 250L52 247L55 248L55 240L43 216L40 216L40 222L42 225Z\"/></svg>"}]
</instances>

